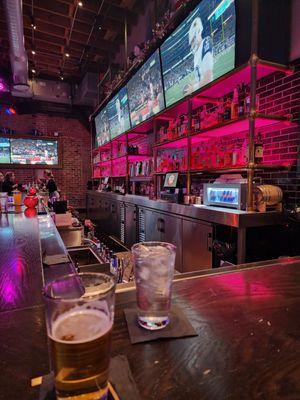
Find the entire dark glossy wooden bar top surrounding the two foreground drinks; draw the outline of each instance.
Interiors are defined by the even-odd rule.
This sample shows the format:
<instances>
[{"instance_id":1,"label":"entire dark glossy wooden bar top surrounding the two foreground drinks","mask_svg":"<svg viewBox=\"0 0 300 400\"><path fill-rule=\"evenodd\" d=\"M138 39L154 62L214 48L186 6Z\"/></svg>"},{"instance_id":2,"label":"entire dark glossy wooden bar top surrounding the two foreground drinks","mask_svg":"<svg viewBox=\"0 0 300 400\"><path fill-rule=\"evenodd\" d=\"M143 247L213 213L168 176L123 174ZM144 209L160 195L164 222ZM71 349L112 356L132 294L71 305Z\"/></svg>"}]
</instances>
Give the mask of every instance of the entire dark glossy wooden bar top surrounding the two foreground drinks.
<instances>
[{"instance_id":1,"label":"entire dark glossy wooden bar top surrounding the two foreground drinks","mask_svg":"<svg viewBox=\"0 0 300 400\"><path fill-rule=\"evenodd\" d=\"M0 224L0 399L34 400L31 379L49 372L39 239L66 250L48 215L2 215ZM53 276L72 270L59 268ZM173 302L198 336L136 345L123 313L135 290L119 288L113 355L128 358L142 399L298 399L299 287L300 257L183 274Z\"/></svg>"}]
</instances>

